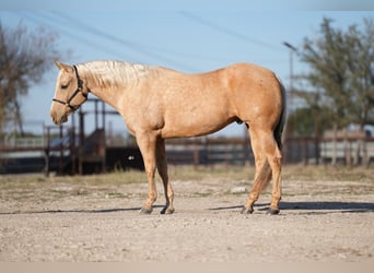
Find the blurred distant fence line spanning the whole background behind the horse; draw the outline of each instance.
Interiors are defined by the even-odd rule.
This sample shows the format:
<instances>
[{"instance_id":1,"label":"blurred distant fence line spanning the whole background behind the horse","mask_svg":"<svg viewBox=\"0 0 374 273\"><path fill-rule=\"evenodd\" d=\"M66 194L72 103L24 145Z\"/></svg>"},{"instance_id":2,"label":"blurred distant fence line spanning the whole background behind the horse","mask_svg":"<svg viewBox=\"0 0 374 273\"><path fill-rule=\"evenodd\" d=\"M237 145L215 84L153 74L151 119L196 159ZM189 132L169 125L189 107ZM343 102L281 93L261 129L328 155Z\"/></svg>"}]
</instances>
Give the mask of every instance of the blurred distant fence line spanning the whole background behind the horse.
<instances>
[{"instance_id":1,"label":"blurred distant fence line spanning the whole background behind the horse","mask_svg":"<svg viewBox=\"0 0 374 273\"><path fill-rule=\"evenodd\" d=\"M59 173L84 174L85 171L80 170L80 158L83 167L90 165L85 168L89 171L93 169L92 171L95 173L117 167L143 168L141 154L135 142L120 141L112 138L110 134L105 135L103 130L96 130L91 135L84 136L84 141L79 141L71 132L71 128L65 128L63 131L62 129L56 131L56 139L49 135L49 131L40 136L8 139L0 143L0 173L7 173L5 167L11 168L13 163L14 168L21 167L27 171L32 171L33 168L48 171L51 168ZM81 149L80 143L84 144ZM126 146L130 143L131 146ZM166 156L168 164L172 165L244 166L254 165L255 162L248 136L166 140ZM355 166L363 163L369 165L372 162L374 162L374 138L362 134L327 133L320 139L289 136L283 144L284 164L335 163Z\"/></svg>"}]
</instances>

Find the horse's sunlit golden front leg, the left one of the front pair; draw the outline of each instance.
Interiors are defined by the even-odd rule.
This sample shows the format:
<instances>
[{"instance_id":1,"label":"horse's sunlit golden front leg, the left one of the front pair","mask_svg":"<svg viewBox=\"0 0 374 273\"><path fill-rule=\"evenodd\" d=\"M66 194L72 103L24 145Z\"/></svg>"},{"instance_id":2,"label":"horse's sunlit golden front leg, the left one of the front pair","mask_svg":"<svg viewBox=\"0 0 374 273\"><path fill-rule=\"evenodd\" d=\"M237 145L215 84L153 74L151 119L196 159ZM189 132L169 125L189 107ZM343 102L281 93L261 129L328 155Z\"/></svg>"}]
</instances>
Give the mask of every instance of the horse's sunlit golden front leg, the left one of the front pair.
<instances>
[{"instance_id":1,"label":"horse's sunlit golden front leg, the left one of the front pair","mask_svg":"<svg viewBox=\"0 0 374 273\"><path fill-rule=\"evenodd\" d=\"M156 168L156 138L150 133L141 133L137 134L137 142L140 152L143 156L145 174L148 179L148 199L143 204L142 209L140 210L140 213L150 214L153 211L153 203L157 199L157 189L154 179Z\"/></svg>"}]
</instances>

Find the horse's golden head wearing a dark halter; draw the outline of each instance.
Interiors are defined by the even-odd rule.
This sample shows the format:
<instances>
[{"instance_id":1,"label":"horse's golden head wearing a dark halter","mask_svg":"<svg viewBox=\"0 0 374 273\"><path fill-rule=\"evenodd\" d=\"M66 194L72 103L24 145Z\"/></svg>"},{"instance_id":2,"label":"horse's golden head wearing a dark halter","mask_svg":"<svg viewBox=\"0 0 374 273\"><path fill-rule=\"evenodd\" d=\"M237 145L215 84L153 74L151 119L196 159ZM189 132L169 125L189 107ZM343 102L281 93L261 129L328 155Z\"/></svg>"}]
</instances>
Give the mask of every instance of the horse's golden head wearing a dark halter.
<instances>
[{"instance_id":1,"label":"horse's golden head wearing a dark halter","mask_svg":"<svg viewBox=\"0 0 374 273\"><path fill-rule=\"evenodd\" d=\"M60 70L55 97L50 107L50 117L56 124L68 121L68 116L87 100L89 90L78 74L75 66L63 64L56 61Z\"/></svg>"}]
</instances>

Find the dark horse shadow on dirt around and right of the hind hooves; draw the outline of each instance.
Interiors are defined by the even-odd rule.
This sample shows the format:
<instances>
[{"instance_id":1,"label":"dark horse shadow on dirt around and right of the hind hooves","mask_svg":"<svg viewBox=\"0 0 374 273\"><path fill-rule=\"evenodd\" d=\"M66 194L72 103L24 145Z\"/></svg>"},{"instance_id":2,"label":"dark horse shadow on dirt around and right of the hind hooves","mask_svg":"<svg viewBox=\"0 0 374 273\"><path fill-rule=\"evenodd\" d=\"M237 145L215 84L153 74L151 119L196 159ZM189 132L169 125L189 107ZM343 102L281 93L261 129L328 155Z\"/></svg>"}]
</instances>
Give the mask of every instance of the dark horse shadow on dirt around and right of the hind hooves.
<instances>
[{"instance_id":1,"label":"dark horse shadow on dirt around and right of the hind hooves","mask_svg":"<svg viewBox=\"0 0 374 273\"><path fill-rule=\"evenodd\" d=\"M269 203L256 203L255 210L267 211ZM211 211L241 210L242 205L211 207ZM374 203L371 202L280 202L280 211L297 211L300 214L329 214L329 213L370 213L374 212Z\"/></svg>"}]
</instances>

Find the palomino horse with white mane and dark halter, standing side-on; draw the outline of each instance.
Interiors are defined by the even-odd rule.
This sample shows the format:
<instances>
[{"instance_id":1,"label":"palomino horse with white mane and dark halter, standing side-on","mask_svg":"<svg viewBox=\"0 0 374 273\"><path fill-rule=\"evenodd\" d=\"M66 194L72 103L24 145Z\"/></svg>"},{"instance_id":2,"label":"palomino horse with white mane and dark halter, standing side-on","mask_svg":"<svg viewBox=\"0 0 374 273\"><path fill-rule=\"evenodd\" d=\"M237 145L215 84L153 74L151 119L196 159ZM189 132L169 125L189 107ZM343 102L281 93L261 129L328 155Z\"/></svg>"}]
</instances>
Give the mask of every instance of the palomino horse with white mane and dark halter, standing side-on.
<instances>
[{"instance_id":1,"label":"palomino horse with white mane and dark halter, standing side-on","mask_svg":"<svg viewBox=\"0 0 374 273\"><path fill-rule=\"evenodd\" d=\"M174 212L165 139L209 134L234 121L247 126L256 162L254 185L242 213L254 211L271 178L269 213L279 213L285 91L273 72L248 63L201 74L120 61L56 64L60 72L50 109L56 124L66 122L92 93L113 106L136 136L149 183L141 213L151 213L156 200L156 169L166 199L161 213Z\"/></svg>"}]
</instances>

